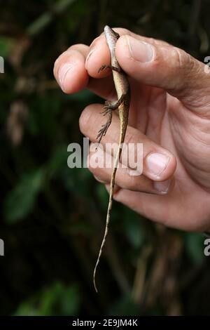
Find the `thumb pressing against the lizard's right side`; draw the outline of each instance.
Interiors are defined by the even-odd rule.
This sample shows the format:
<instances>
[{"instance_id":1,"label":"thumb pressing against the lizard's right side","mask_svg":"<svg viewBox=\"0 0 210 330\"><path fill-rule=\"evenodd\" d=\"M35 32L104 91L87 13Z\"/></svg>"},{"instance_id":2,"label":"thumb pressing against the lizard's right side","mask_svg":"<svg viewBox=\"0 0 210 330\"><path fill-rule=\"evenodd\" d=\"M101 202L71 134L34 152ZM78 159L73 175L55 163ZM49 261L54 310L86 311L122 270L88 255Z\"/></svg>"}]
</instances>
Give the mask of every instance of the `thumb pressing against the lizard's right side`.
<instances>
[{"instance_id":1,"label":"thumb pressing against the lizard's right side","mask_svg":"<svg viewBox=\"0 0 210 330\"><path fill-rule=\"evenodd\" d=\"M163 88L199 112L209 105L209 70L180 48L125 35L118 39L116 56L123 70L142 84Z\"/></svg>"}]
</instances>

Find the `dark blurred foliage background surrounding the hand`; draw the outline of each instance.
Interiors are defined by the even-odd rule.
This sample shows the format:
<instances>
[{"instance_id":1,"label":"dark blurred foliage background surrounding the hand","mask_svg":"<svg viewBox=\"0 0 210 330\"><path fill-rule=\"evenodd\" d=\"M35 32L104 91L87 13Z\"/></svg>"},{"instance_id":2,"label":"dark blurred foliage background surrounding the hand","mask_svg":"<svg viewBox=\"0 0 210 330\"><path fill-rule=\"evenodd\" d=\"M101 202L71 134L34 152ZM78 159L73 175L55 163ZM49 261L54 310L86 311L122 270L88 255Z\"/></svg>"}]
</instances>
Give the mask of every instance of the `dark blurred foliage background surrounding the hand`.
<instances>
[{"instance_id":1,"label":"dark blurred foliage background surrounding the hand","mask_svg":"<svg viewBox=\"0 0 210 330\"><path fill-rule=\"evenodd\" d=\"M1 315L210 314L210 265L200 234L168 230L113 205L87 169L69 169L82 143L89 91L64 95L52 74L71 44L90 44L109 24L209 55L209 1L0 1Z\"/></svg>"}]
</instances>

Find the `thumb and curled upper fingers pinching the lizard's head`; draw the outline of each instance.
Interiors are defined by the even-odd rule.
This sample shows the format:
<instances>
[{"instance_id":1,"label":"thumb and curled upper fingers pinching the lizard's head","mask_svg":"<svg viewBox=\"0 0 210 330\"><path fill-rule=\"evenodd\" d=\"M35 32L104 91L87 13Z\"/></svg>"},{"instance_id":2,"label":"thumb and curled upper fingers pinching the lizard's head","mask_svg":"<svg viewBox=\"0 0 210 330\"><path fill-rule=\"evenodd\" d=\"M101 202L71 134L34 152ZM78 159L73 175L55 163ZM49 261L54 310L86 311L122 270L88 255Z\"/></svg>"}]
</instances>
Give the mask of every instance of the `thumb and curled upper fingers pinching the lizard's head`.
<instances>
[{"instance_id":1,"label":"thumb and curled upper fingers pinching the lizard's head","mask_svg":"<svg viewBox=\"0 0 210 330\"><path fill-rule=\"evenodd\" d=\"M126 29L116 32L121 36L116 56L130 77L141 84L165 89L197 112L209 110L209 70L205 70L202 62L164 41L141 37ZM109 62L109 48L102 34L90 47L73 45L60 55L55 62L55 78L65 93L87 87L103 98L112 99L115 88L111 72L98 73L99 67Z\"/></svg>"}]
</instances>

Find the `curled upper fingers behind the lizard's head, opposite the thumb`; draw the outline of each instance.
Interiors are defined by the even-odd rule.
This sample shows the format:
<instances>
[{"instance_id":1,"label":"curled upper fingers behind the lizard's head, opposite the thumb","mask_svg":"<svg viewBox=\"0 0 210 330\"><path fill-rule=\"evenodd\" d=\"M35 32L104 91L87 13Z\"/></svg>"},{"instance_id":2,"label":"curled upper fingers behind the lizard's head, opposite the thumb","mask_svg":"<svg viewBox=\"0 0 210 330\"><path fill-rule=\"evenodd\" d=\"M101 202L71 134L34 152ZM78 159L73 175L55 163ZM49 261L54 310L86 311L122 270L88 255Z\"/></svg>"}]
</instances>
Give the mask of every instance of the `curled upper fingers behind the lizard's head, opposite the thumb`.
<instances>
[{"instance_id":1,"label":"curled upper fingers behind the lizard's head, opposite the thumb","mask_svg":"<svg viewBox=\"0 0 210 330\"><path fill-rule=\"evenodd\" d=\"M120 35L129 34L138 39L149 41L151 44L166 44L164 41L138 36L127 29L116 29L116 32ZM83 88L89 88L102 98L112 100L116 91L111 71L104 70L104 72L98 73L99 67L109 64L109 62L109 48L106 45L104 34L102 34L94 39L90 47L76 44L62 53L55 61L55 79L64 93L71 94Z\"/></svg>"}]
</instances>

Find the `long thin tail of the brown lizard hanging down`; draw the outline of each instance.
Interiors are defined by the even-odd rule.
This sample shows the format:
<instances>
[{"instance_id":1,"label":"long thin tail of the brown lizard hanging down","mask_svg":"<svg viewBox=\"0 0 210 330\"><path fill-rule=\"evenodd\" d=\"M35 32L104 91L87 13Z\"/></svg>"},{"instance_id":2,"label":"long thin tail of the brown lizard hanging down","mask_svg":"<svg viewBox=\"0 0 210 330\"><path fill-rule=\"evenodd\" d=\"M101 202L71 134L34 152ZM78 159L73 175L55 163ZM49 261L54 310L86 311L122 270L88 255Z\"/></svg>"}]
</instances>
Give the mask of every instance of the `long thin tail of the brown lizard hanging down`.
<instances>
[{"instance_id":1,"label":"long thin tail of the brown lizard hanging down","mask_svg":"<svg viewBox=\"0 0 210 330\"><path fill-rule=\"evenodd\" d=\"M121 140L121 138L120 138L120 140ZM100 250L99 250L99 256L97 258L97 262L94 266L93 284L94 284L94 289L95 289L96 292L98 292L98 291L97 291L97 286L96 286L96 283L95 283L95 275L96 275L96 272L97 272L97 267L99 265L100 258L102 256L102 251L104 249L104 244L106 242L106 236L107 236L108 230L109 230L109 221L110 221L111 208L112 208L112 202L113 202L113 189L114 189L114 185L115 185L116 171L117 171L117 167L118 167L118 163L119 163L119 159L120 159L120 154L122 152L122 145L121 144L122 144L122 142L120 141L120 143L118 145L118 152L116 154L116 159L114 161L113 170L112 170L112 173L111 173L111 183L110 183L110 192L109 192L109 205L108 205L107 215L106 215L106 227L105 227L105 232L104 232L104 238L103 238Z\"/></svg>"}]
</instances>

